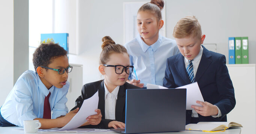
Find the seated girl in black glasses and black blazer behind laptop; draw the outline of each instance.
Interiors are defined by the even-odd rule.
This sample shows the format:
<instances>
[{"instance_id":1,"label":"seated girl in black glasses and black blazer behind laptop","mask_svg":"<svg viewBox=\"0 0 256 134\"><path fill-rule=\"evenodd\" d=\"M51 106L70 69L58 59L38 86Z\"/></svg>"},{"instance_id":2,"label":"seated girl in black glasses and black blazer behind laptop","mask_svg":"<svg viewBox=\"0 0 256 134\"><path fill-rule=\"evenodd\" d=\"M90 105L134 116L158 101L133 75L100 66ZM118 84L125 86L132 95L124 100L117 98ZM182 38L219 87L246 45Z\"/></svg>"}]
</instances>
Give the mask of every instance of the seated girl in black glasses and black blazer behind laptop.
<instances>
[{"instance_id":1,"label":"seated girl in black glasses and black blazer behind laptop","mask_svg":"<svg viewBox=\"0 0 256 134\"><path fill-rule=\"evenodd\" d=\"M126 89L139 87L126 82L133 71L126 48L115 44L109 36L103 37L102 42L99 71L104 79L84 84L82 95L76 99L73 109L81 108L85 99L99 91L98 108L101 110L102 120L98 125L87 125L83 128L124 128Z\"/></svg>"}]
</instances>

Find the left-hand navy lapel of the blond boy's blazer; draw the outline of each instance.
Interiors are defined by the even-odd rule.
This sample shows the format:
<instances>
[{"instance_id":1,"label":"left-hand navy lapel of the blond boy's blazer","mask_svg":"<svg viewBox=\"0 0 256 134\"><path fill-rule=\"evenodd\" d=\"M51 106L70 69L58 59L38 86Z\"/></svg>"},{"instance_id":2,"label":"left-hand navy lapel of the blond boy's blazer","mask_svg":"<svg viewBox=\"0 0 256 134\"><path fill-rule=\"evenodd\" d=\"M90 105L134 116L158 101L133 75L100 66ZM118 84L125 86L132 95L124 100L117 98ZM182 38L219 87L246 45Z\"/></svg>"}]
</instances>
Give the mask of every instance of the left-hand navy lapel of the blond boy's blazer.
<instances>
[{"instance_id":1,"label":"left-hand navy lapel of the blond boy's blazer","mask_svg":"<svg viewBox=\"0 0 256 134\"><path fill-rule=\"evenodd\" d=\"M184 57L183 55L179 55L175 62L174 66L177 69L177 72L180 74L181 78L184 80L185 83L190 84L189 76L187 74L187 70L185 68L185 63L184 63Z\"/></svg>"}]
</instances>

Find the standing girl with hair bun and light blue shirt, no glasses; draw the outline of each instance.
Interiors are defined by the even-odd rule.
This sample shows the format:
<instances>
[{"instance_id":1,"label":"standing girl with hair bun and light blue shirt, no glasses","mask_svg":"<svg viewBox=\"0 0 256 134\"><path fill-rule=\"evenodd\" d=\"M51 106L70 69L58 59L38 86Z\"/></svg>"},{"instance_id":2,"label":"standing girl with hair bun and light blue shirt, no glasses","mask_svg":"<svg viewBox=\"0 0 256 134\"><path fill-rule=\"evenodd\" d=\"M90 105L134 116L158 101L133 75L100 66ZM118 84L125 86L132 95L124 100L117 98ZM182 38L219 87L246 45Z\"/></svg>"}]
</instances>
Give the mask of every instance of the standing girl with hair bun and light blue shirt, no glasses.
<instances>
[{"instance_id":1,"label":"standing girl with hair bun and light blue shirt, no glasses","mask_svg":"<svg viewBox=\"0 0 256 134\"><path fill-rule=\"evenodd\" d=\"M161 14L163 6L163 0L151 0L142 5L137 14L139 34L124 45L130 55L130 63L134 66L127 82L139 87L145 88L147 83L162 86L166 59L180 53L175 40L159 34L164 23Z\"/></svg>"}]
</instances>

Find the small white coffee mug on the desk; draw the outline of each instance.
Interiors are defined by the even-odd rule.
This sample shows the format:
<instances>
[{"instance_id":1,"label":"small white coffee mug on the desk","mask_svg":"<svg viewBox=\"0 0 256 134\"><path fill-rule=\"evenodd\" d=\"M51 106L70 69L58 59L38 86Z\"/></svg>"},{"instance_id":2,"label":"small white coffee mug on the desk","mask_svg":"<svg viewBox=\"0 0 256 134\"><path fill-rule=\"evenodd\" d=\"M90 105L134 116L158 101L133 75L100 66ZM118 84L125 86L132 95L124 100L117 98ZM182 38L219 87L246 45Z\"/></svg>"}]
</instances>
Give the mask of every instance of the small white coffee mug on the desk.
<instances>
[{"instance_id":1,"label":"small white coffee mug on the desk","mask_svg":"<svg viewBox=\"0 0 256 134\"><path fill-rule=\"evenodd\" d=\"M41 123L38 120L23 121L25 133L37 133Z\"/></svg>"}]
</instances>

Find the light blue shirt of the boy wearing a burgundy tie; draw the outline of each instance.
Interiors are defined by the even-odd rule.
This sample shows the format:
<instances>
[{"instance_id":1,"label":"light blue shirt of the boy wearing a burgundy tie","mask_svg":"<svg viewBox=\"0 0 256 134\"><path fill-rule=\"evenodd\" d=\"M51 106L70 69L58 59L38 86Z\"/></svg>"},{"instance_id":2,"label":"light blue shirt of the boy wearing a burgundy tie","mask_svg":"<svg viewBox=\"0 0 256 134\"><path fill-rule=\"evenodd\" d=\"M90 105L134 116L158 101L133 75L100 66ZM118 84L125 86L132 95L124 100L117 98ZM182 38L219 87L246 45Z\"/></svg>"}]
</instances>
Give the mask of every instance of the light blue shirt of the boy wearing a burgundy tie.
<instances>
[{"instance_id":1,"label":"light blue shirt of the boy wearing a burgundy tie","mask_svg":"<svg viewBox=\"0 0 256 134\"><path fill-rule=\"evenodd\" d=\"M43 118L43 103L45 96L51 92L49 102L52 110L52 119L66 115L66 94L69 82L62 88L52 86L49 90L40 80L38 74L27 70L17 80L13 89L1 107L1 115L10 123L23 127L24 120Z\"/></svg>"}]
</instances>

